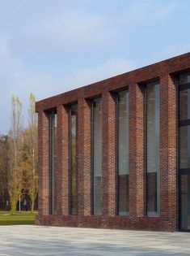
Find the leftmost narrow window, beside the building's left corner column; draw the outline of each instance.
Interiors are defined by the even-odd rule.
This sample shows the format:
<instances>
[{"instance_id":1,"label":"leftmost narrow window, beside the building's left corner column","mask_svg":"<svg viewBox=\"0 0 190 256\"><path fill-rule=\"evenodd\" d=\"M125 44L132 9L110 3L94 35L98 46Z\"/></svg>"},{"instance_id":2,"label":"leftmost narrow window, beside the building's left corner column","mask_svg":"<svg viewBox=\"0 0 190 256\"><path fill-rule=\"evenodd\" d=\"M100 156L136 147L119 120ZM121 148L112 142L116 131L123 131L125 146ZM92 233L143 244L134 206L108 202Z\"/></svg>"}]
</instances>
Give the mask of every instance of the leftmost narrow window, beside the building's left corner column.
<instances>
[{"instance_id":1,"label":"leftmost narrow window, beside the building's left corner column","mask_svg":"<svg viewBox=\"0 0 190 256\"><path fill-rule=\"evenodd\" d=\"M57 214L57 188L55 179L57 114L49 114L49 214Z\"/></svg>"}]
</instances>

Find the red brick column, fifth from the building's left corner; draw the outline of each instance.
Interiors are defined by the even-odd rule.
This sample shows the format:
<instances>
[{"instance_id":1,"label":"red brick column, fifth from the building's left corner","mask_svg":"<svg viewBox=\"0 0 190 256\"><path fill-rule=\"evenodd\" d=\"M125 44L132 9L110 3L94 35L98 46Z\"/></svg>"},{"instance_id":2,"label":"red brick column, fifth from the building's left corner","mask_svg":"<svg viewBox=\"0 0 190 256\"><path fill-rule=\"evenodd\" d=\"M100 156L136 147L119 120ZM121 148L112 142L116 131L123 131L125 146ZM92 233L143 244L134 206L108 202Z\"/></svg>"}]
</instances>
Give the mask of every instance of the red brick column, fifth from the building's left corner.
<instances>
[{"instance_id":1,"label":"red brick column, fifth from the building's left corner","mask_svg":"<svg viewBox=\"0 0 190 256\"><path fill-rule=\"evenodd\" d=\"M144 89L129 86L129 215L145 214Z\"/></svg>"}]
</instances>

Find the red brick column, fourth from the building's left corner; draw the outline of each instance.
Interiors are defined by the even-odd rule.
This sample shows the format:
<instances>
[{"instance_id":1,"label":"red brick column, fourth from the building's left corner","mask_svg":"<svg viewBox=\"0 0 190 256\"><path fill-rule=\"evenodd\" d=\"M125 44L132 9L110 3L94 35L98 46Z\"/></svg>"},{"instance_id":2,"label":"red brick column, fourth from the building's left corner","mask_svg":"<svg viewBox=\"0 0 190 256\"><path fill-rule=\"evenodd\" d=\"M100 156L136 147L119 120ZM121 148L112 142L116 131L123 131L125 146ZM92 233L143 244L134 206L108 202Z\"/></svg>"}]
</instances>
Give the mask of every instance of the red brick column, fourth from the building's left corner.
<instances>
[{"instance_id":1,"label":"red brick column, fourth from the building's left corner","mask_svg":"<svg viewBox=\"0 0 190 256\"><path fill-rule=\"evenodd\" d=\"M116 215L116 96L102 97L103 215Z\"/></svg>"}]
</instances>

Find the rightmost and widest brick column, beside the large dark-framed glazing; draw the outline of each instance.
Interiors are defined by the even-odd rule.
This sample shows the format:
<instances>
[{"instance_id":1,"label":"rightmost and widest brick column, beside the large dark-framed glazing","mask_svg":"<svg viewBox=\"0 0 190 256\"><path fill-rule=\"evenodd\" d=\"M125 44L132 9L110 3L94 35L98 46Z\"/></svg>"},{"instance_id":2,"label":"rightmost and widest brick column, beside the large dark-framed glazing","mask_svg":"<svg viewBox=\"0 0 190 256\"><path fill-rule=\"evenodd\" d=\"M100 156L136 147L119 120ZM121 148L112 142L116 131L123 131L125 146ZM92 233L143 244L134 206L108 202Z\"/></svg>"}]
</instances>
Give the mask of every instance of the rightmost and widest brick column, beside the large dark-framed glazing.
<instances>
[{"instance_id":1,"label":"rightmost and widest brick column, beside the large dark-framed glazing","mask_svg":"<svg viewBox=\"0 0 190 256\"><path fill-rule=\"evenodd\" d=\"M161 217L166 230L178 227L178 100L177 80L165 75L160 79L160 197Z\"/></svg>"}]
</instances>

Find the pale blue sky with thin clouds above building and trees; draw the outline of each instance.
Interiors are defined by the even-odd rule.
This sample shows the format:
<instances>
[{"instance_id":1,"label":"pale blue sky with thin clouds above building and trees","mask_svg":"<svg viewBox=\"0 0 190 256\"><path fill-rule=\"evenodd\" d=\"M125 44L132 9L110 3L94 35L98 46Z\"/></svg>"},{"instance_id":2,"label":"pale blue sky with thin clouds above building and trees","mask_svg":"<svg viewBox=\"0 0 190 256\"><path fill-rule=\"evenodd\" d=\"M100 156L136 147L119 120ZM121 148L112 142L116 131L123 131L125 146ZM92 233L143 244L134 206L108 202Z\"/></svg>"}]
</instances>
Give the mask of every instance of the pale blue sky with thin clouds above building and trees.
<instances>
[{"instance_id":1,"label":"pale blue sky with thin clouds above building and trees","mask_svg":"<svg viewBox=\"0 0 190 256\"><path fill-rule=\"evenodd\" d=\"M0 134L36 100L190 51L190 1L0 0Z\"/></svg>"}]
</instances>

